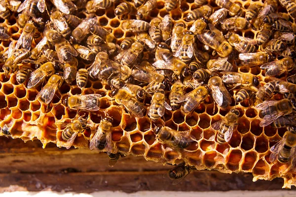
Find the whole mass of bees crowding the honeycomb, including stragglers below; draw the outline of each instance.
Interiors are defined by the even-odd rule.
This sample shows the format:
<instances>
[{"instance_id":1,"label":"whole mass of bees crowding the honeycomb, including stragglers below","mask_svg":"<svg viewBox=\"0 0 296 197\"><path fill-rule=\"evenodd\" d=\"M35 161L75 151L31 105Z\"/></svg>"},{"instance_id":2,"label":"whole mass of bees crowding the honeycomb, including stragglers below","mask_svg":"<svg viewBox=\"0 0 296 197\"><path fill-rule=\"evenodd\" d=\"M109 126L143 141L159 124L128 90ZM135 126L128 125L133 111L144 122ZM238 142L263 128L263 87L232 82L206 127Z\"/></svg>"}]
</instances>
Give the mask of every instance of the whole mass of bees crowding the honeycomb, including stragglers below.
<instances>
[{"instance_id":1,"label":"whole mass of bees crowding the honeycomb, including stragglers below","mask_svg":"<svg viewBox=\"0 0 296 197\"><path fill-rule=\"evenodd\" d=\"M184 22L174 23L167 14L148 23L145 19L156 0L1 0L0 17L9 19L11 11L17 12L18 25L23 28L18 41L1 52L2 70L6 75L16 73L17 82L29 89L45 84L36 99L47 105L63 83L76 81L84 89L87 80L102 81L111 87L109 96L131 116L143 118L148 114L157 139L178 152L195 138L190 131L163 126L165 111L181 108L190 114L208 96L226 108L233 102L229 91L235 89L235 103L249 100L261 110L260 126L287 127L283 139L271 148L269 160L292 164L296 147L296 75L287 81L278 78L295 69L296 3L252 1L245 8L232 0L215 2L219 9L207 5L207 0L194 0L197 8L189 11ZM123 19L122 28L136 34L125 37L120 46L114 35L98 24L94 14L113 3L117 5L114 15ZM164 7L170 12L180 9L180 5L181 0L166 0ZM276 11L279 6L285 8L283 12ZM255 39L237 32L250 28L259 31ZM9 38L1 26L0 40ZM87 66L81 67L84 65L78 60ZM260 86L258 76L239 73L238 66L260 66L270 80ZM191 91L186 93L188 89ZM274 94L283 94L284 99L269 100ZM69 94L62 103L73 110L92 112L100 109L100 97ZM150 98L149 106L145 98ZM219 144L230 140L239 115L233 107L211 126L218 133ZM123 156L112 152L112 122L112 117L104 117L90 141L90 149L106 152L111 165ZM92 123L77 117L71 123L56 124L70 148L77 134ZM8 127L2 131L9 134ZM169 177L178 183L191 169L179 164L170 170Z\"/></svg>"}]
</instances>

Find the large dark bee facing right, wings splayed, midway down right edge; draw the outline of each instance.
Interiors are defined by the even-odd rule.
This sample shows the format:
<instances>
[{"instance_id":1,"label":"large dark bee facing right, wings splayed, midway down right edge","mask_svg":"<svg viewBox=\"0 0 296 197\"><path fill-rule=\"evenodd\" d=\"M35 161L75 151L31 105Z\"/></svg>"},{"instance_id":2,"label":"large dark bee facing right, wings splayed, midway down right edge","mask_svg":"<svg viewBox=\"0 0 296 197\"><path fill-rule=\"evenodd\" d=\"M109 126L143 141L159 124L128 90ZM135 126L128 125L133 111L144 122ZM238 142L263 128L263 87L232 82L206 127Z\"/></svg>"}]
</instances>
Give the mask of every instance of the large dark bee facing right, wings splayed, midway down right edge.
<instances>
[{"instance_id":1,"label":"large dark bee facing right, wings splayed, midway down right edge","mask_svg":"<svg viewBox=\"0 0 296 197\"><path fill-rule=\"evenodd\" d=\"M296 99L266 100L258 104L256 108L262 110L263 119L259 125L260 127L265 127L279 117L294 112L296 109Z\"/></svg>"}]
</instances>

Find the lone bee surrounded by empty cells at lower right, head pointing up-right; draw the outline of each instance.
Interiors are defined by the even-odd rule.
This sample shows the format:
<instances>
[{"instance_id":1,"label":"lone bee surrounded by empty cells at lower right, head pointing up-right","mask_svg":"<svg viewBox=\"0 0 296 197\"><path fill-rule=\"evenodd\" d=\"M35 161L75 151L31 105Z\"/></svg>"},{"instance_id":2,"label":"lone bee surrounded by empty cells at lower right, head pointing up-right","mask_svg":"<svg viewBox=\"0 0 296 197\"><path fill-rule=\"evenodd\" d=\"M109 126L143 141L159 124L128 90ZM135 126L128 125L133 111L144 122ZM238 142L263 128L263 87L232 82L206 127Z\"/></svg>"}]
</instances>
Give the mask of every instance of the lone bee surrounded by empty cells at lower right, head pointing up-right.
<instances>
[{"instance_id":1,"label":"lone bee surrounded by empty cells at lower right, head pointing up-right","mask_svg":"<svg viewBox=\"0 0 296 197\"><path fill-rule=\"evenodd\" d=\"M212 129L218 131L217 142L219 144L230 140L233 130L238 125L239 114L239 110L231 109L224 118L211 126Z\"/></svg>"}]
</instances>

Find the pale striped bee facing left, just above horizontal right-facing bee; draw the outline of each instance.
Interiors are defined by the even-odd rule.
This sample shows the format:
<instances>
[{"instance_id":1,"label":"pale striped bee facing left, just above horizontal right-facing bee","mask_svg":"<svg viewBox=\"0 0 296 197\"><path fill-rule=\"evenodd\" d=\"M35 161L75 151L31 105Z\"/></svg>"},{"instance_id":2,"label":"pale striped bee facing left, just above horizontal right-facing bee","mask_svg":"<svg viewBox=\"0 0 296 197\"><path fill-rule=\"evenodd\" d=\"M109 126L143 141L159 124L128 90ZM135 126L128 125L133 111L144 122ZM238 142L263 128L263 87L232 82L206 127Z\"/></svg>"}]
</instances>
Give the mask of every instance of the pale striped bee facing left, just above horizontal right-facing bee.
<instances>
[{"instance_id":1,"label":"pale striped bee facing left, just above horizontal right-facing bee","mask_svg":"<svg viewBox=\"0 0 296 197\"><path fill-rule=\"evenodd\" d=\"M219 58L216 60L209 60L207 68L213 73L216 71L233 71L234 67L227 61L227 58Z\"/></svg>"}]
</instances>

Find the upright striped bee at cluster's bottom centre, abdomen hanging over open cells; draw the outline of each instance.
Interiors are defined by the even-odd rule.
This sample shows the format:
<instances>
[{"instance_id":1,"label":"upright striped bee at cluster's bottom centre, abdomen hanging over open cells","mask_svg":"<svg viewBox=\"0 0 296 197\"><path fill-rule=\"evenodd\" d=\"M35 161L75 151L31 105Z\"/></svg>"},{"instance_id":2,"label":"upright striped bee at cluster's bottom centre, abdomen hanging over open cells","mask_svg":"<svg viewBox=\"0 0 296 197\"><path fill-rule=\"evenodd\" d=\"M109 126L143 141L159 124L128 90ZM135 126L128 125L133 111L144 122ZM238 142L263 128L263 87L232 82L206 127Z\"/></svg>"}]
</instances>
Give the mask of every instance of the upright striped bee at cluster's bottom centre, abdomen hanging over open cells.
<instances>
[{"instance_id":1,"label":"upright striped bee at cluster's bottom centre, abdomen hanging over open cells","mask_svg":"<svg viewBox=\"0 0 296 197\"><path fill-rule=\"evenodd\" d=\"M165 101L164 90L156 90L152 96L148 116L156 122L164 115L165 109L172 110L172 107Z\"/></svg>"}]
</instances>

